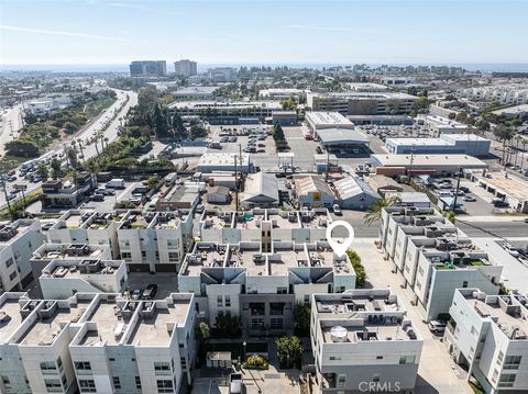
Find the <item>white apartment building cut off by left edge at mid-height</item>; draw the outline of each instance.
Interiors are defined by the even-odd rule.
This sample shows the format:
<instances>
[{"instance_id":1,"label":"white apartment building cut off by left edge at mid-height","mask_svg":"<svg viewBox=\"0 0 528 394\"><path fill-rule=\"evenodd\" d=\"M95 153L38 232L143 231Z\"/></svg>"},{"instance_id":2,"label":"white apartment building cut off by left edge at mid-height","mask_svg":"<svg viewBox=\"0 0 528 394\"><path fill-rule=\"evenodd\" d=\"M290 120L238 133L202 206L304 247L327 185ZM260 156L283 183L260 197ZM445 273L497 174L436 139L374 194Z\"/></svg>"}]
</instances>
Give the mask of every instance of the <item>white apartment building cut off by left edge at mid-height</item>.
<instances>
[{"instance_id":1,"label":"white apartment building cut off by left edge at mid-height","mask_svg":"<svg viewBox=\"0 0 528 394\"><path fill-rule=\"evenodd\" d=\"M30 258L45 239L38 221L0 223L0 293L20 290L31 282Z\"/></svg>"}]
</instances>

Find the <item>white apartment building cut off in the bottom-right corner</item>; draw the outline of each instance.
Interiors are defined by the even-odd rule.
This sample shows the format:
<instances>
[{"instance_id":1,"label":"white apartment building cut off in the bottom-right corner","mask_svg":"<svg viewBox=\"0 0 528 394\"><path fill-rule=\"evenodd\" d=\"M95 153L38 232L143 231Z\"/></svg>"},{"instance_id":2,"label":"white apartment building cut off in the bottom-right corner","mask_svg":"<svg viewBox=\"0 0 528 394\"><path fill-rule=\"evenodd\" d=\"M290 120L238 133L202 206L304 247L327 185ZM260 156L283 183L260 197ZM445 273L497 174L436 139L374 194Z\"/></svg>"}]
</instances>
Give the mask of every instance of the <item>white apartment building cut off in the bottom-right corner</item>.
<instances>
[{"instance_id":1,"label":"white apartment building cut off in the bottom-right corner","mask_svg":"<svg viewBox=\"0 0 528 394\"><path fill-rule=\"evenodd\" d=\"M458 289L444 345L487 394L528 391L528 300Z\"/></svg>"}]
</instances>

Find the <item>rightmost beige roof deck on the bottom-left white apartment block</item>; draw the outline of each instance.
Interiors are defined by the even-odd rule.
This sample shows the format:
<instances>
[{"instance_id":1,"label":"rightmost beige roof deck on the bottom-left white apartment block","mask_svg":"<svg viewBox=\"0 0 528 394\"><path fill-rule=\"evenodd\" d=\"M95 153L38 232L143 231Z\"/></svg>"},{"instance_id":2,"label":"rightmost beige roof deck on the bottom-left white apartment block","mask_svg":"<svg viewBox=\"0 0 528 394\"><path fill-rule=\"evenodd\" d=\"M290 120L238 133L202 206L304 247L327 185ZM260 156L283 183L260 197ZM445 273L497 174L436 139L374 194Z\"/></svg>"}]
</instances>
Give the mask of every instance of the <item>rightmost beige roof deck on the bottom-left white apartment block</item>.
<instances>
[{"instance_id":1,"label":"rightmost beige roof deck on the bottom-left white apartment block","mask_svg":"<svg viewBox=\"0 0 528 394\"><path fill-rule=\"evenodd\" d=\"M135 346L168 346L173 330L169 324L183 324L187 318L190 303L175 300L173 305L158 307L150 318L140 319L130 336L129 345ZM175 327L174 327L175 328ZM174 329L173 328L173 329Z\"/></svg>"}]
</instances>

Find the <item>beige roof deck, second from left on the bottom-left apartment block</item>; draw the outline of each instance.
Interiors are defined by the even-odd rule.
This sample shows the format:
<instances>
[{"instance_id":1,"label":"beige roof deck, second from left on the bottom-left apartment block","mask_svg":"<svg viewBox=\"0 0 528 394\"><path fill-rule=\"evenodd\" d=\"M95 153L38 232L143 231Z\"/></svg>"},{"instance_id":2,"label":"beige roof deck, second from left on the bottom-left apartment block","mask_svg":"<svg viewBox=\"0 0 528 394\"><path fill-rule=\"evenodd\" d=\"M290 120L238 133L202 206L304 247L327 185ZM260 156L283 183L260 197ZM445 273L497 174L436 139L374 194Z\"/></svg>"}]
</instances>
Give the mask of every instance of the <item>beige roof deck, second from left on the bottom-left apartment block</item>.
<instances>
[{"instance_id":1,"label":"beige roof deck, second from left on the bottom-left apartment block","mask_svg":"<svg viewBox=\"0 0 528 394\"><path fill-rule=\"evenodd\" d=\"M33 322L25 334L20 338L20 345L51 346L68 323L76 323L86 312L90 302L79 301L69 307L57 307L47 318Z\"/></svg>"}]
</instances>

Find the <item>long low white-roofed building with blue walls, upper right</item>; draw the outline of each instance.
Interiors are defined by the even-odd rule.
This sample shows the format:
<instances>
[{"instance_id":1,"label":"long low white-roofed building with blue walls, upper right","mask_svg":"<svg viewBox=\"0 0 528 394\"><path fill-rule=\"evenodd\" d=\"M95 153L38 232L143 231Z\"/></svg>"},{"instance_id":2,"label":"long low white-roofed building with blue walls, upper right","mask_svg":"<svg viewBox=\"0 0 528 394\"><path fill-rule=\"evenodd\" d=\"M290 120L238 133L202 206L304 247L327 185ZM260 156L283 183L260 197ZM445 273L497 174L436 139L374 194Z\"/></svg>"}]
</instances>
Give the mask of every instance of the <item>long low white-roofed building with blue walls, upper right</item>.
<instances>
[{"instance_id":1,"label":"long low white-roofed building with blue walls, upper right","mask_svg":"<svg viewBox=\"0 0 528 394\"><path fill-rule=\"evenodd\" d=\"M486 156L492 142L475 134L441 134L438 138L387 138L385 147L397 155Z\"/></svg>"}]
</instances>

